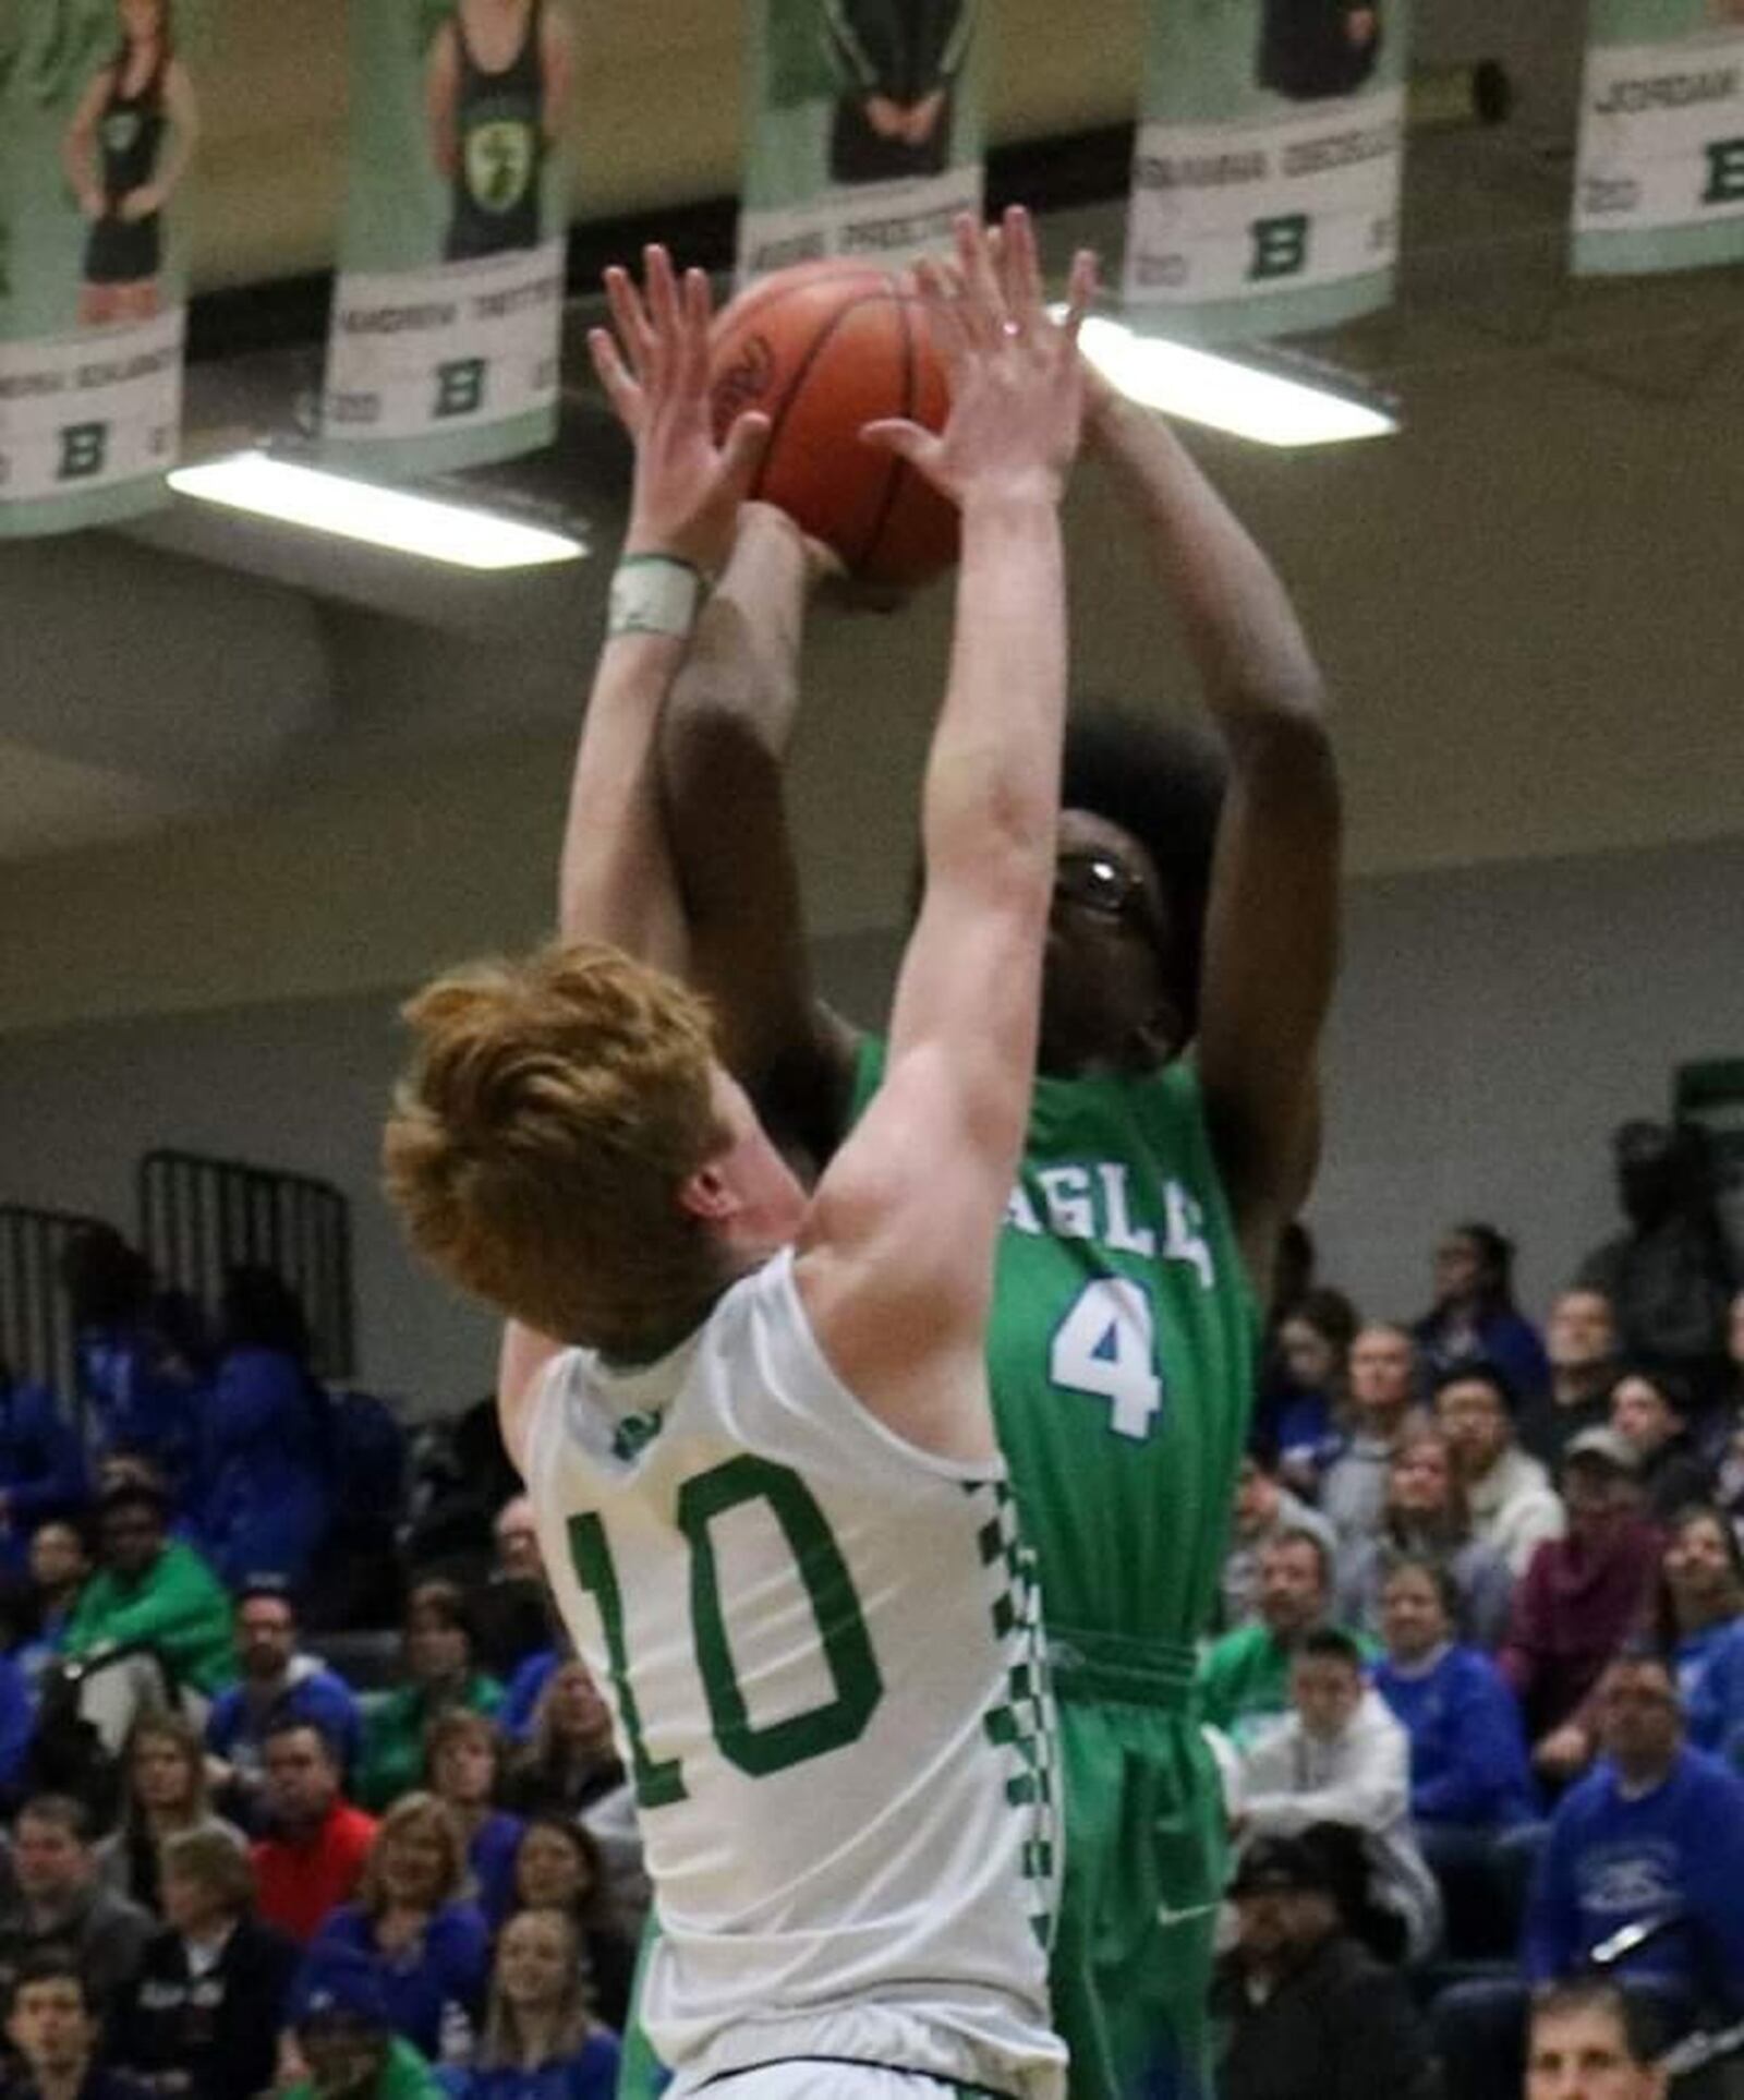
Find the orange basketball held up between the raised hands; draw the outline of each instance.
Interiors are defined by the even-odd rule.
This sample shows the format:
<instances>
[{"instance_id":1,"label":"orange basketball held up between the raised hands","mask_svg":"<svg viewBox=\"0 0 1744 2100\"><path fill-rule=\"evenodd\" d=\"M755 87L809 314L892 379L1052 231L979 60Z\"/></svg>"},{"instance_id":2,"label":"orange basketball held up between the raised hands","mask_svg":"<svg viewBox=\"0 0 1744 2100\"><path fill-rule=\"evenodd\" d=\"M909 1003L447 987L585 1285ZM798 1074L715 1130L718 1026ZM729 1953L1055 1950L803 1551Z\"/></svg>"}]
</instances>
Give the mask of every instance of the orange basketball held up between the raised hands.
<instances>
[{"instance_id":1,"label":"orange basketball held up between the raised hands","mask_svg":"<svg viewBox=\"0 0 1744 2100\"><path fill-rule=\"evenodd\" d=\"M716 321L716 430L762 410L770 441L751 496L779 504L869 584L923 584L957 559L957 510L860 428L944 422L949 386L919 300L867 262L802 262Z\"/></svg>"}]
</instances>

